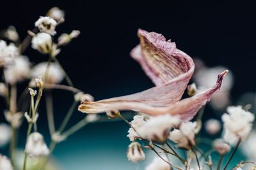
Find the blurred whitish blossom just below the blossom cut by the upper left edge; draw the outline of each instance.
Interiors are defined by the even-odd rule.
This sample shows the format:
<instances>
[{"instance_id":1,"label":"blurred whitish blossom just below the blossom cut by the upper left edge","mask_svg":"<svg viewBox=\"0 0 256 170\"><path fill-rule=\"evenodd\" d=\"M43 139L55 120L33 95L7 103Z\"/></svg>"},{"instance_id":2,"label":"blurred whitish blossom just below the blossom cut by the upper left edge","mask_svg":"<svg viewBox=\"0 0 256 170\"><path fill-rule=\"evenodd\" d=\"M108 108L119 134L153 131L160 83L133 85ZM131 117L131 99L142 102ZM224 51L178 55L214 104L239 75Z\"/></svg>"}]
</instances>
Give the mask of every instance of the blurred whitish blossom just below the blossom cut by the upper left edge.
<instances>
[{"instance_id":1,"label":"blurred whitish blossom just below the blossom cut by the upper left edge","mask_svg":"<svg viewBox=\"0 0 256 170\"><path fill-rule=\"evenodd\" d=\"M6 66L4 71L5 80L10 84L29 78L29 74L30 62L26 56L17 57L12 64Z\"/></svg>"}]
</instances>

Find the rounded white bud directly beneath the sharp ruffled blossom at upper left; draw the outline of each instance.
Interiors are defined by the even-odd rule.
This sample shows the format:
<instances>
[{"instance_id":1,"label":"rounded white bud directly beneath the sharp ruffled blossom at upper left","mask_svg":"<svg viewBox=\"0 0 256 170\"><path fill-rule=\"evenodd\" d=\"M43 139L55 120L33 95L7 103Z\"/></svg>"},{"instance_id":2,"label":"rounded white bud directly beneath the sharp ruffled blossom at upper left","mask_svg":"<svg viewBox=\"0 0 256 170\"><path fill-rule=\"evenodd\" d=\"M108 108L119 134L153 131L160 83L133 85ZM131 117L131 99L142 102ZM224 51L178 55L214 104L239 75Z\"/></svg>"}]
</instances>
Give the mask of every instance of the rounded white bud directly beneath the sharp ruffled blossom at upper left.
<instances>
[{"instance_id":1,"label":"rounded white bud directly beneath the sharp ruffled blossom at upper left","mask_svg":"<svg viewBox=\"0 0 256 170\"><path fill-rule=\"evenodd\" d=\"M32 38L32 48L41 53L49 53L52 49L52 37L45 32L39 32Z\"/></svg>"}]
</instances>

